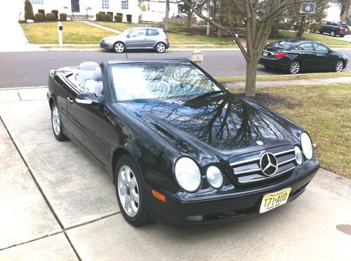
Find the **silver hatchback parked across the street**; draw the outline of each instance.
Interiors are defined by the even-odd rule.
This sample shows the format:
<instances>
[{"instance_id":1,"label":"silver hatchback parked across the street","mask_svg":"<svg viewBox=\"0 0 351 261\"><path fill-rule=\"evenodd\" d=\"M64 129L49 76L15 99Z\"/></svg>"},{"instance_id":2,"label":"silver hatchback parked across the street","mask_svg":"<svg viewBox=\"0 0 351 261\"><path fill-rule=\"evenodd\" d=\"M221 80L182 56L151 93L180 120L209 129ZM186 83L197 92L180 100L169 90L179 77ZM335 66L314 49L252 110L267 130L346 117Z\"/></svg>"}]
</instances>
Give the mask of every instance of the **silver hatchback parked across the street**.
<instances>
[{"instance_id":1,"label":"silver hatchback parked across the street","mask_svg":"<svg viewBox=\"0 0 351 261\"><path fill-rule=\"evenodd\" d=\"M131 49L154 49L164 52L169 47L168 36L163 29L153 27L135 27L122 31L116 36L101 40L101 48L124 52Z\"/></svg>"}]
</instances>

